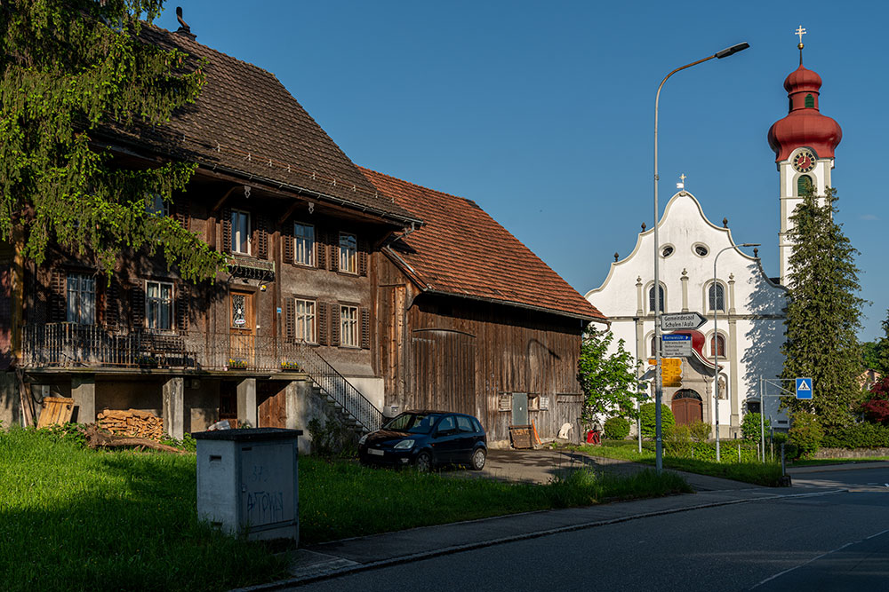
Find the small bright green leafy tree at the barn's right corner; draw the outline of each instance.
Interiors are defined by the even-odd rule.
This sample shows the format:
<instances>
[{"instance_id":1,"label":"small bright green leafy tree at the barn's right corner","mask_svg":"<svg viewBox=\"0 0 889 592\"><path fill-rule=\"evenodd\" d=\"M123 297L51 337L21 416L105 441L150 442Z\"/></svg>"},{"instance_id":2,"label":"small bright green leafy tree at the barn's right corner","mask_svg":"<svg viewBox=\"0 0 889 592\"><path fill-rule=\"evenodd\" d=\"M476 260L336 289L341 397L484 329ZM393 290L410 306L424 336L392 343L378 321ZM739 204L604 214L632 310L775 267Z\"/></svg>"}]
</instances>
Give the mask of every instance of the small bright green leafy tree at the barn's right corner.
<instances>
[{"instance_id":1,"label":"small bright green leafy tree at the barn's right corner","mask_svg":"<svg viewBox=\"0 0 889 592\"><path fill-rule=\"evenodd\" d=\"M581 422L590 425L602 414L636 417L636 374L633 357L623 349L621 339L617 352L609 354L614 335L608 330L590 327L583 336L581 356L577 362L577 381L586 397Z\"/></svg>"}]
</instances>

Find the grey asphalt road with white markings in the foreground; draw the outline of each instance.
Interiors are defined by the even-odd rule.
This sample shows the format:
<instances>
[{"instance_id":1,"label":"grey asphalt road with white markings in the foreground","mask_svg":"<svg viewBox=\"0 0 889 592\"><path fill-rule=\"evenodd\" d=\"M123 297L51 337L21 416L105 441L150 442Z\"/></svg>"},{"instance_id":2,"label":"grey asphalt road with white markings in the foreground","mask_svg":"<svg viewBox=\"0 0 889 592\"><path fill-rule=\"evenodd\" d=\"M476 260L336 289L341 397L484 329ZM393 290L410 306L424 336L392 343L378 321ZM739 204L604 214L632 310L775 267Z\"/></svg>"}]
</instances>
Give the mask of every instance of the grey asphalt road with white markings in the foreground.
<instances>
[{"instance_id":1,"label":"grey asphalt road with white markings in the foreground","mask_svg":"<svg viewBox=\"0 0 889 592\"><path fill-rule=\"evenodd\" d=\"M316 582L308 590L884 590L889 469L794 485L849 493L757 501L516 541ZM876 485L875 485L876 484Z\"/></svg>"}]
</instances>

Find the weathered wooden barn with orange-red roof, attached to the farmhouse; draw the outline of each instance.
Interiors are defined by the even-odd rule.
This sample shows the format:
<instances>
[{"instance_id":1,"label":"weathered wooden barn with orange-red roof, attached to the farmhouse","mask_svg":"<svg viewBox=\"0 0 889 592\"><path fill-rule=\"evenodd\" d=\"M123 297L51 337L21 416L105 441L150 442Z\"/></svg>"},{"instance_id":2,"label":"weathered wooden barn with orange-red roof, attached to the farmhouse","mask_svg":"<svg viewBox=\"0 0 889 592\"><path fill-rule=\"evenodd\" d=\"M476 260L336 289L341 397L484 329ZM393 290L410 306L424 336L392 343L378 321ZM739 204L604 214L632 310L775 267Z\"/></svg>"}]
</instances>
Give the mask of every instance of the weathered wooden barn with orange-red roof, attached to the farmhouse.
<instances>
[{"instance_id":1,"label":"weathered wooden barn with orange-red roof, attached to the farmhouse","mask_svg":"<svg viewBox=\"0 0 889 592\"><path fill-rule=\"evenodd\" d=\"M605 315L474 201L364 174L423 220L373 254L384 413L474 414L494 446L529 423L579 438L581 335Z\"/></svg>"}]
</instances>

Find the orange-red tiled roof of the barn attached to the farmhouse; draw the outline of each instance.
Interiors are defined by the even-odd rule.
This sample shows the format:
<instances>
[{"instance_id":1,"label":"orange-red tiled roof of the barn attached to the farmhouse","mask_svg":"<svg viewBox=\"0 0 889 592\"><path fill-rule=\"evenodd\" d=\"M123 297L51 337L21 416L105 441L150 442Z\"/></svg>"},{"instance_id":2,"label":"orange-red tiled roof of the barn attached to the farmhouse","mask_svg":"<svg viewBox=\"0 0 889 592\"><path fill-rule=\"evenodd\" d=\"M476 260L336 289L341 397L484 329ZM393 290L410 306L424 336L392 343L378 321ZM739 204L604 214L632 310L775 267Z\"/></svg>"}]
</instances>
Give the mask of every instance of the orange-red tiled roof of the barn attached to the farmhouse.
<instances>
[{"instance_id":1,"label":"orange-red tiled roof of the barn attached to the farmhouse","mask_svg":"<svg viewBox=\"0 0 889 592\"><path fill-rule=\"evenodd\" d=\"M420 217L405 248L389 249L420 287L454 296L543 309L581 319L605 315L474 201L361 169L373 185Z\"/></svg>"}]
</instances>

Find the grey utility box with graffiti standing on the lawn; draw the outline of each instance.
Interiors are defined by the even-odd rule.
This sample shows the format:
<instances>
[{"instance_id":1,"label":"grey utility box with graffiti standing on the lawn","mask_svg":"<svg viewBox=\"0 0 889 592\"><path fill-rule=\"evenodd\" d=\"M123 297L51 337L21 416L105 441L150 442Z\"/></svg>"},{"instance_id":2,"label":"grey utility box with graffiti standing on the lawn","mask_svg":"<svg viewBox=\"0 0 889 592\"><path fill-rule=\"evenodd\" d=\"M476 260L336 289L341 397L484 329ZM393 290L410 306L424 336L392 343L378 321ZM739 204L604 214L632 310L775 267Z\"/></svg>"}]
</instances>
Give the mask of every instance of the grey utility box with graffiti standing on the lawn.
<instances>
[{"instance_id":1,"label":"grey utility box with graffiti standing on the lawn","mask_svg":"<svg viewBox=\"0 0 889 592\"><path fill-rule=\"evenodd\" d=\"M302 430L200 431L197 516L250 539L300 540Z\"/></svg>"}]
</instances>

